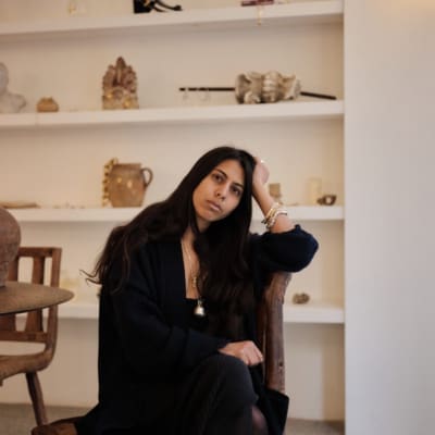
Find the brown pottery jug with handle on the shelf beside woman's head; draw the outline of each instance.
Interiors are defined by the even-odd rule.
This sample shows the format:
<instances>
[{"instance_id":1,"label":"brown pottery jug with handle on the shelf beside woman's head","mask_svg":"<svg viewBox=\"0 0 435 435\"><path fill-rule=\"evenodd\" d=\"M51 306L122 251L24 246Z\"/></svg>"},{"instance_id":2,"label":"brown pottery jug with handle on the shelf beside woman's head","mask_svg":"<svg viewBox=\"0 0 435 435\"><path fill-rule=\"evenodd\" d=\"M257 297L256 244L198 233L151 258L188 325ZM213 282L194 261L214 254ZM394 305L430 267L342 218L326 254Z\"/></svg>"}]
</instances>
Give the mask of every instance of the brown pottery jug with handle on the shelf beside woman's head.
<instances>
[{"instance_id":1,"label":"brown pottery jug with handle on the shelf beside woman's head","mask_svg":"<svg viewBox=\"0 0 435 435\"><path fill-rule=\"evenodd\" d=\"M140 163L114 163L107 174L108 200L113 207L140 207L152 171Z\"/></svg>"}]
</instances>

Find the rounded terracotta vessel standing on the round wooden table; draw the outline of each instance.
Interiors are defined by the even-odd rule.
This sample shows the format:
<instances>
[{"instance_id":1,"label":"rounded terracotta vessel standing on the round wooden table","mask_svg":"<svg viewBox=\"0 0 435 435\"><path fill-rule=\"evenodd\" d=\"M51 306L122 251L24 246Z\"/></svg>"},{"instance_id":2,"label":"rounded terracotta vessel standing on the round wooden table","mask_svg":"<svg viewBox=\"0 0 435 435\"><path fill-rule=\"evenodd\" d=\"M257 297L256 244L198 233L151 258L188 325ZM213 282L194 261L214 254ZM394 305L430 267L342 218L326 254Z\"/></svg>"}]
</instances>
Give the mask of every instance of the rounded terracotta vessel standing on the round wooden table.
<instances>
[{"instance_id":1,"label":"rounded terracotta vessel standing on the round wooden table","mask_svg":"<svg viewBox=\"0 0 435 435\"><path fill-rule=\"evenodd\" d=\"M9 264L14 260L21 243L21 229L15 217L0 208L0 287L4 287Z\"/></svg>"}]
</instances>

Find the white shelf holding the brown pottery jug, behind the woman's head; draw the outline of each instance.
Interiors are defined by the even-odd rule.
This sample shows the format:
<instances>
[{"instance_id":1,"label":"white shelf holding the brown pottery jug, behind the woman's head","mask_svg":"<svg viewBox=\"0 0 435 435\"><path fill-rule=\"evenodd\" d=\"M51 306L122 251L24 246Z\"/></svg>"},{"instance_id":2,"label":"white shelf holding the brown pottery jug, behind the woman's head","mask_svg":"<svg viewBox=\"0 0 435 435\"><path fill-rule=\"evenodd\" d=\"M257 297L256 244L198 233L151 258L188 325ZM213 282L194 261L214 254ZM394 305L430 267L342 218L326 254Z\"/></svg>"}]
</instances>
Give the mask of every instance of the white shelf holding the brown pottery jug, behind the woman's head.
<instances>
[{"instance_id":1,"label":"white shelf holding the brown pottery jug, behind the woman's head","mask_svg":"<svg viewBox=\"0 0 435 435\"><path fill-rule=\"evenodd\" d=\"M126 222L139 213L141 208L95 208L95 209L9 209L20 222ZM299 221L343 221L341 206L288 207L288 214ZM253 214L253 220L261 220L260 212Z\"/></svg>"}]
</instances>

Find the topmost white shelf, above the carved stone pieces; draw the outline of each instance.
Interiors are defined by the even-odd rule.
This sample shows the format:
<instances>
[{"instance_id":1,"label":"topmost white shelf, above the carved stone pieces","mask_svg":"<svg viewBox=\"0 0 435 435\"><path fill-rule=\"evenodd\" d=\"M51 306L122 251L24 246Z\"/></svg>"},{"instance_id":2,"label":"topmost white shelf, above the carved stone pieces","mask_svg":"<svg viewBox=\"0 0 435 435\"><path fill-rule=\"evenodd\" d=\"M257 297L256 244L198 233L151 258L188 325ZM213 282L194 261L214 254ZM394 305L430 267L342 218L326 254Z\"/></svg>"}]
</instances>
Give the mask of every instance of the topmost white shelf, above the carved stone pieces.
<instances>
[{"instance_id":1,"label":"topmost white shelf, above the carved stone pieces","mask_svg":"<svg viewBox=\"0 0 435 435\"><path fill-rule=\"evenodd\" d=\"M343 0L296 2L263 7L261 27L343 22ZM258 26L257 8L196 9L162 14L134 14L120 17L67 17L33 23L0 25L0 39L90 37L183 30L225 30Z\"/></svg>"}]
</instances>

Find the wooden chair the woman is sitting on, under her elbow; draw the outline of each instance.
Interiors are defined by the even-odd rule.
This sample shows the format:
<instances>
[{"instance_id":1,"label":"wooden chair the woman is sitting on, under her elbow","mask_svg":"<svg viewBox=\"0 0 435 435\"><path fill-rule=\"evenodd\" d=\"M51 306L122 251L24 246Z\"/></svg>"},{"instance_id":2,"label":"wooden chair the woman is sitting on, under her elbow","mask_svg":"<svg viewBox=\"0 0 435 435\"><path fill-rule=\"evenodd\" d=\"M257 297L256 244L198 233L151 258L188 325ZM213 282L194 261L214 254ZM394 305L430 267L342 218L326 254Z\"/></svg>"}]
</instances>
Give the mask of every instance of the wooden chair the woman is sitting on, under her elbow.
<instances>
[{"instance_id":1,"label":"wooden chair the woman is sitting on, under her elbow","mask_svg":"<svg viewBox=\"0 0 435 435\"><path fill-rule=\"evenodd\" d=\"M285 390L283 303L290 276L288 272L275 272L272 275L258 310L258 334L264 356L265 385L281 393ZM74 422L78 419L79 417L73 417L37 426L32 435L77 435Z\"/></svg>"}]
</instances>

